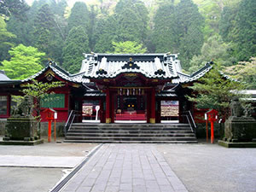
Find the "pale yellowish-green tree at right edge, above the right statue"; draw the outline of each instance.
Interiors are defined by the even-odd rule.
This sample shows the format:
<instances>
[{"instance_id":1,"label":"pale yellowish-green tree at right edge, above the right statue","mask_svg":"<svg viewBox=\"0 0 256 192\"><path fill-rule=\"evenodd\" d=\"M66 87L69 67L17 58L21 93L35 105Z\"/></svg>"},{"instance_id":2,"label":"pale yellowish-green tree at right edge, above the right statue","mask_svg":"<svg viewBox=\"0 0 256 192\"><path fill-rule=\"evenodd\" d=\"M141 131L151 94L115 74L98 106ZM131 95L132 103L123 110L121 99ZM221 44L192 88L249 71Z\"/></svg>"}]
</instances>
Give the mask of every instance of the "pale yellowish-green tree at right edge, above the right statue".
<instances>
[{"instance_id":1,"label":"pale yellowish-green tree at right edge, above the right statue","mask_svg":"<svg viewBox=\"0 0 256 192\"><path fill-rule=\"evenodd\" d=\"M247 83L247 89L256 89L256 57L251 61L240 61L237 65L225 67L224 72L232 78Z\"/></svg>"}]
</instances>

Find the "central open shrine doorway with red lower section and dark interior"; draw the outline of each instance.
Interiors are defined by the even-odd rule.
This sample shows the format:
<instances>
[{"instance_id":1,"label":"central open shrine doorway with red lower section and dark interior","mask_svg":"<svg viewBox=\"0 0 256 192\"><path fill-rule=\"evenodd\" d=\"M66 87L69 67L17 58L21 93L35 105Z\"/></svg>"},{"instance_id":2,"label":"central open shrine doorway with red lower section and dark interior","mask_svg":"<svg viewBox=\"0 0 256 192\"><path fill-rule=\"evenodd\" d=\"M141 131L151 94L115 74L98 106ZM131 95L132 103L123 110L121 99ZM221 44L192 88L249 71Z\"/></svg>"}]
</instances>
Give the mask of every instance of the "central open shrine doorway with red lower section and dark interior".
<instances>
[{"instance_id":1,"label":"central open shrine doorway with red lower section and dark interior","mask_svg":"<svg viewBox=\"0 0 256 192\"><path fill-rule=\"evenodd\" d=\"M116 96L115 123L146 123L147 96Z\"/></svg>"}]
</instances>

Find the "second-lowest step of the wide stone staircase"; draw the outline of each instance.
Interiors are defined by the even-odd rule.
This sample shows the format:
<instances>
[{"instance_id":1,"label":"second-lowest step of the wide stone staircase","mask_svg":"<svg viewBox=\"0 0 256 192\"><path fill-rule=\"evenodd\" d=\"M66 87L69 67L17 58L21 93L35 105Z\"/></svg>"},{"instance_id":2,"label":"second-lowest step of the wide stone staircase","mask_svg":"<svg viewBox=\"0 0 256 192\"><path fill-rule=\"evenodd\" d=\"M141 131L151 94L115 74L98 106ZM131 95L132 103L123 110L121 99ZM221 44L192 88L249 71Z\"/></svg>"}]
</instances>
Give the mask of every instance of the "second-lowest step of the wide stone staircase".
<instances>
[{"instance_id":1,"label":"second-lowest step of the wide stone staircase","mask_svg":"<svg viewBox=\"0 0 256 192\"><path fill-rule=\"evenodd\" d=\"M66 137L67 140L109 140L109 141L195 141L195 137Z\"/></svg>"}]
</instances>

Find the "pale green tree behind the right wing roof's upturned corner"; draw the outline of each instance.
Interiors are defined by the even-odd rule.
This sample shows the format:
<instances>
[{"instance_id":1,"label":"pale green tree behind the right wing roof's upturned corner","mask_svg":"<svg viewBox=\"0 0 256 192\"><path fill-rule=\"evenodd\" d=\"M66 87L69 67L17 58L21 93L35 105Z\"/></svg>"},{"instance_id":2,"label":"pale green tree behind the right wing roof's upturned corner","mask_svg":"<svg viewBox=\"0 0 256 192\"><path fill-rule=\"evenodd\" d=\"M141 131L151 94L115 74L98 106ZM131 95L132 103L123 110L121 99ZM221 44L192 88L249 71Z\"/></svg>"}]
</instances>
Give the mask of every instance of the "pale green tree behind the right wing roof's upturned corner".
<instances>
[{"instance_id":1,"label":"pale green tree behind the right wing roof's upturned corner","mask_svg":"<svg viewBox=\"0 0 256 192\"><path fill-rule=\"evenodd\" d=\"M190 61L189 72L195 72L203 67L208 61L214 61L222 67L231 66L236 59L230 55L230 44L226 44L218 36L207 39L201 48L201 55L194 55Z\"/></svg>"}]
</instances>

